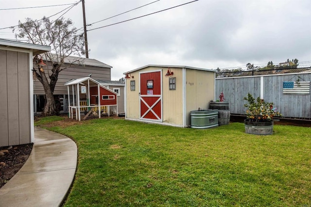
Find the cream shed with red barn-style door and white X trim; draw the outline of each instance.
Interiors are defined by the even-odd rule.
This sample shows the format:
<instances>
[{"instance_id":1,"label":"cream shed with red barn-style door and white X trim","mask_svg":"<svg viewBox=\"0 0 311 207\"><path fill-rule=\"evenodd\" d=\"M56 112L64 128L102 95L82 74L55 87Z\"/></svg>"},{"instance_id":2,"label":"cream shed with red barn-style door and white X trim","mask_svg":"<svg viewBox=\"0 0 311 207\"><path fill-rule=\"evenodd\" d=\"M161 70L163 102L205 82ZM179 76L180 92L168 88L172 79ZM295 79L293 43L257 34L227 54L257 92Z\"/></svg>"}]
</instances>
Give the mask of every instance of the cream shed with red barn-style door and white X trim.
<instances>
[{"instance_id":1,"label":"cream shed with red barn-style door and white X trim","mask_svg":"<svg viewBox=\"0 0 311 207\"><path fill-rule=\"evenodd\" d=\"M215 70L146 65L124 73L125 119L190 126L190 111L208 109L215 100Z\"/></svg>"}]
</instances>

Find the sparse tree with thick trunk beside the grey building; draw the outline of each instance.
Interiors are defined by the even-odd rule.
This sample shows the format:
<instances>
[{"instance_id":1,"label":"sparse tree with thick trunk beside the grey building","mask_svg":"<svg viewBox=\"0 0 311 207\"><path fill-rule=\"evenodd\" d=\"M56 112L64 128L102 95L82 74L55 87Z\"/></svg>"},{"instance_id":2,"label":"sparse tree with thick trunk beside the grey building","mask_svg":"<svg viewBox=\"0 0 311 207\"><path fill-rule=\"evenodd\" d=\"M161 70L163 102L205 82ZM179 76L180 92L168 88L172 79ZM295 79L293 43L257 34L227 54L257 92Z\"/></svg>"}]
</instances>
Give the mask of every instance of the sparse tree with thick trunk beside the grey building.
<instances>
[{"instance_id":1,"label":"sparse tree with thick trunk beside the grey building","mask_svg":"<svg viewBox=\"0 0 311 207\"><path fill-rule=\"evenodd\" d=\"M66 20L64 17L52 22L46 17L39 21L26 18L25 23L18 21L18 27L12 28L12 31L17 31L16 37L27 38L30 43L51 46L52 50L46 52L43 57L50 63L52 69L49 70L48 65L47 70L44 70L41 66L33 70L35 77L43 85L46 95L43 115L57 114L53 93L58 74L72 64L79 62L79 58L77 58L65 67L64 60L66 57L73 54L78 56L85 54L83 33L77 35L78 30L73 27L73 22L70 19ZM39 61L40 59L35 57L35 62L38 63Z\"/></svg>"}]
</instances>

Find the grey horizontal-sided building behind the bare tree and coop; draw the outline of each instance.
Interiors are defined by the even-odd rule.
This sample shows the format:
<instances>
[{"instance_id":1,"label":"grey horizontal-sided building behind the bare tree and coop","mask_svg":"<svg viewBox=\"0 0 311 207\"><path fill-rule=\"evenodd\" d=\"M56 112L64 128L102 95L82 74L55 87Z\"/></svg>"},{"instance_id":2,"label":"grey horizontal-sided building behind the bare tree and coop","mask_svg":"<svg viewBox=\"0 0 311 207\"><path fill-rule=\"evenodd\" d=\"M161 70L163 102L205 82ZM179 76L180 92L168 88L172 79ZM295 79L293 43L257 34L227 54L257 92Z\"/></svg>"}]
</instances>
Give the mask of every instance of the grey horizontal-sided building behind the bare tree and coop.
<instances>
[{"instance_id":1,"label":"grey horizontal-sided building behind the bare tree and coop","mask_svg":"<svg viewBox=\"0 0 311 207\"><path fill-rule=\"evenodd\" d=\"M44 55L42 56L44 58ZM68 67L71 63L71 67L66 68L61 71L58 75L58 80L54 89L54 100L56 107L60 112L68 112L68 91L65 83L72 79L84 78L91 76L92 79L100 80L111 80L111 68L112 66L104 64L95 59L88 59L82 57L68 56L64 60L62 68ZM45 68L46 71L49 70L51 73L51 63L48 61L45 63L48 65ZM34 63L34 67L37 66ZM48 74L48 72L46 72ZM48 76L47 76L48 77ZM49 78L48 78L49 79ZM35 113L40 113L43 111L45 104L45 92L42 84L39 80L34 78L34 102L35 102Z\"/></svg>"}]
</instances>

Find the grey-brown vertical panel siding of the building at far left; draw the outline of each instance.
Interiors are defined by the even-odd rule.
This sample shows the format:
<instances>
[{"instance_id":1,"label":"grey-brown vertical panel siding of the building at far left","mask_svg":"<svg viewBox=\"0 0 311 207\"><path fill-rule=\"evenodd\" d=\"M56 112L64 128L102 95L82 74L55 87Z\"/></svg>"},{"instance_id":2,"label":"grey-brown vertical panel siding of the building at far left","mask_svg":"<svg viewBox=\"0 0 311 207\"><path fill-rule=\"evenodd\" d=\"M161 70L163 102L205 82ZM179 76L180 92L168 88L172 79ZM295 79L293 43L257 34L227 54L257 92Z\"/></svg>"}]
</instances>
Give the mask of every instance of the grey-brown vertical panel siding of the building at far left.
<instances>
[{"instance_id":1,"label":"grey-brown vertical panel siding of the building at far left","mask_svg":"<svg viewBox=\"0 0 311 207\"><path fill-rule=\"evenodd\" d=\"M29 53L0 49L0 146L31 143Z\"/></svg>"}]
</instances>

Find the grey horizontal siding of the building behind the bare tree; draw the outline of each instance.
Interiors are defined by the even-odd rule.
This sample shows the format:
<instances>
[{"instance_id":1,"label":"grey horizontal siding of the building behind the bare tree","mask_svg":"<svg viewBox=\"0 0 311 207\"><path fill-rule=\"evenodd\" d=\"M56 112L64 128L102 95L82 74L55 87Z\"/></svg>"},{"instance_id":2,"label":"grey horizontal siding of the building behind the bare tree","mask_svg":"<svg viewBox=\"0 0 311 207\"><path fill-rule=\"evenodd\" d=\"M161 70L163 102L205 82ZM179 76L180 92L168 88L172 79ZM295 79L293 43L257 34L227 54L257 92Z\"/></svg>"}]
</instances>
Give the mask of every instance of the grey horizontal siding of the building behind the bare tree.
<instances>
[{"instance_id":1,"label":"grey horizontal siding of the building behind the bare tree","mask_svg":"<svg viewBox=\"0 0 311 207\"><path fill-rule=\"evenodd\" d=\"M49 63L48 63L49 64ZM65 65L66 66L66 65ZM34 67L37 66L34 64ZM51 65L49 65L51 68ZM47 68L44 68L47 74ZM74 65L73 67L66 68L61 71L58 75L58 80L54 89L54 95L63 95L67 94L67 86L64 84L71 79L79 79L83 77L87 77L89 74L92 74L92 79L97 80L110 80L111 72L110 68L104 67L96 67L96 66L88 66L88 65ZM50 69L50 73L51 69ZM34 80L34 94L45 94L43 90L43 86L39 80Z\"/></svg>"}]
</instances>

